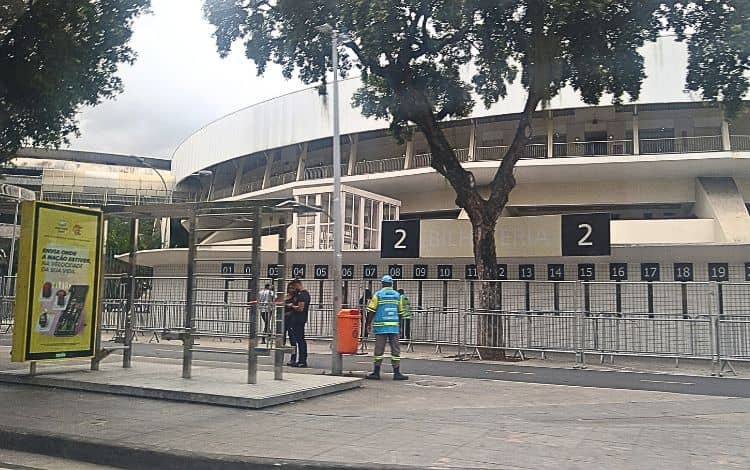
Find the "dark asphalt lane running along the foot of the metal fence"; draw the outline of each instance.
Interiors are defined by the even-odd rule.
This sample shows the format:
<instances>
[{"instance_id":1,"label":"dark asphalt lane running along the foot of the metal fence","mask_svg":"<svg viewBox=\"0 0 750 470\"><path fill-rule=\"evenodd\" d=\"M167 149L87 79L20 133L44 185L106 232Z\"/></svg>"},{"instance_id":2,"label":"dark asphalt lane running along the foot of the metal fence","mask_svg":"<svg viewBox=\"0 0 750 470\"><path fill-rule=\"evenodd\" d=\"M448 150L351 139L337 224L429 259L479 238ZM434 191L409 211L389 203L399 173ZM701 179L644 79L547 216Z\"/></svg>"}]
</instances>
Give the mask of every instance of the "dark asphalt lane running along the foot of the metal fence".
<instances>
[{"instance_id":1,"label":"dark asphalt lane running along the foot of the metal fence","mask_svg":"<svg viewBox=\"0 0 750 470\"><path fill-rule=\"evenodd\" d=\"M201 346L204 348L205 346ZM210 349L205 347L206 349ZM182 358L182 347L176 343L142 344L135 348L136 356ZM288 356L287 356L288 358ZM196 361L212 361L241 366L246 356L213 352L194 353ZM260 364L271 364L271 358L261 357ZM316 369L329 369L330 356L311 354L308 364ZM345 356L344 370L364 373L372 366L372 356ZM384 362L384 378L388 379L390 365ZM426 359L403 359L402 370L406 374L431 375L440 377L504 380L578 387L614 388L626 390L651 390L660 392L684 393L691 395L711 395L727 397L750 397L750 379L729 377L705 377L675 374L654 374L641 372L601 371L558 367L533 367L497 362L459 362Z\"/></svg>"}]
</instances>

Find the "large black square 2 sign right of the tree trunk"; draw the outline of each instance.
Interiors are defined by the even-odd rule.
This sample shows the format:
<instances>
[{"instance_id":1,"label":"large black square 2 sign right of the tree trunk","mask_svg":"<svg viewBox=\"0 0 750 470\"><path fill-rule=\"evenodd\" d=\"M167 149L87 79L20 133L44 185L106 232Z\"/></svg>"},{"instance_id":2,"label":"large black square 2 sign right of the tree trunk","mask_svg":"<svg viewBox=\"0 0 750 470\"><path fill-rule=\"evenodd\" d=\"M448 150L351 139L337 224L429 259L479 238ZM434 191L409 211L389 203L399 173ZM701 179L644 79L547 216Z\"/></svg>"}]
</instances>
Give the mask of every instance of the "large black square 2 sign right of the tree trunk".
<instances>
[{"instance_id":1,"label":"large black square 2 sign right of the tree trunk","mask_svg":"<svg viewBox=\"0 0 750 470\"><path fill-rule=\"evenodd\" d=\"M609 256L610 214L562 216L563 256Z\"/></svg>"}]
</instances>

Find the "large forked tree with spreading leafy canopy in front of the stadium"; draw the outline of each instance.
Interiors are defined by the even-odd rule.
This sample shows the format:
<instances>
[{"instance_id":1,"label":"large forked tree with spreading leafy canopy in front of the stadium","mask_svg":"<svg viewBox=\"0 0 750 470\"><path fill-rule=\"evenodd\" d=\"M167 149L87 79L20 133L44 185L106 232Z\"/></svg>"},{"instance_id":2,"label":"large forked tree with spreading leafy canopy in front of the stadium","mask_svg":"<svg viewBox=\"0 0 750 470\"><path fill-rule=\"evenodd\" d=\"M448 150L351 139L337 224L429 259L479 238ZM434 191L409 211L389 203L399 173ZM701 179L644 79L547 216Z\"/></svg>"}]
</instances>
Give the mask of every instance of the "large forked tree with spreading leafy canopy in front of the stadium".
<instances>
[{"instance_id":1,"label":"large forked tree with spreading leafy canopy in front of the stadium","mask_svg":"<svg viewBox=\"0 0 750 470\"><path fill-rule=\"evenodd\" d=\"M496 273L495 227L516 185L513 169L532 136L532 115L566 86L589 104L638 98L645 78L639 48L671 32L687 41L687 86L737 108L748 89L748 0L205 0L219 53L237 39L258 73L269 62L289 78L322 82L330 71L331 38L345 32L340 71L360 70L355 104L366 116L390 119L397 136L421 131L432 167L466 211L480 279ZM471 68L469 77L462 68ZM515 136L487 188L463 168L443 131L448 118L469 115L506 97L520 80L526 93ZM483 195L486 194L486 195ZM486 283L480 302L496 305ZM498 325L484 328L486 342Z\"/></svg>"}]
</instances>

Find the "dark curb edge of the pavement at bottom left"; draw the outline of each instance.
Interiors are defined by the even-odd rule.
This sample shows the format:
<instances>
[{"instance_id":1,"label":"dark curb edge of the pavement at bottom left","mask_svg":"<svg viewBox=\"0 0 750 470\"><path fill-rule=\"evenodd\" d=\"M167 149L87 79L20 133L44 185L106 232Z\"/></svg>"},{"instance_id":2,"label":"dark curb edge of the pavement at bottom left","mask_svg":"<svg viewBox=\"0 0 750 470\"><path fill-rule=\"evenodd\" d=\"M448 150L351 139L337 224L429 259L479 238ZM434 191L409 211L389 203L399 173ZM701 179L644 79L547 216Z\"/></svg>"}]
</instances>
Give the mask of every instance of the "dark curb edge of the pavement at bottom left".
<instances>
[{"instance_id":1,"label":"dark curb edge of the pavement at bottom left","mask_svg":"<svg viewBox=\"0 0 750 470\"><path fill-rule=\"evenodd\" d=\"M267 457L147 448L137 445L97 442L82 439L78 436L66 436L12 427L0 427L0 448L125 469L261 470L280 468L287 470L414 470L416 468L404 465L374 463L345 464L339 462L271 459Z\"/></svg>"}]
</instances>

